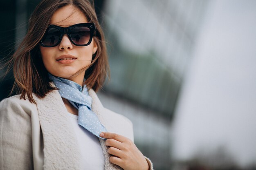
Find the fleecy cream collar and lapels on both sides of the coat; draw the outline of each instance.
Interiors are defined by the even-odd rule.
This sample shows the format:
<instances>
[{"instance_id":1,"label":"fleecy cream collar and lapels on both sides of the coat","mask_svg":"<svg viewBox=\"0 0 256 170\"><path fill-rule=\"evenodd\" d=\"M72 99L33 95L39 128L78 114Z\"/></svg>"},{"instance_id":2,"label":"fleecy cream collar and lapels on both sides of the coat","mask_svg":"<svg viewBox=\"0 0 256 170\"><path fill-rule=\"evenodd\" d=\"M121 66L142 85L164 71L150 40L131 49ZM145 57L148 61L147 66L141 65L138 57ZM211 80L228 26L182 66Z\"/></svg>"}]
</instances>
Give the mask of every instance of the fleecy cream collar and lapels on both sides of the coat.
<instances>
[{"instance_id":1,"label":"fleecy cream collar and lapels on both sides of the coat","mask_svg":"<svg viewBox=\"0 0 256 170\"><path fill-rule=\"evenodd\" d=\"M54 86L53 83L51 85ZM89 95L92 97L92 111L97 115L101 124L111 131L110 123L104 119L104 107L96 93L90 89ZM67 109L61 95L54 90L43 99L35 97L35 101L43 133L44 169L81 170L81 152L75 134L71 130L72 125L69 123ZM110 155L105 140L99 138L99 141L104 155L104 170L122 170L109 161Z\"/></svg>"}]
</instances>

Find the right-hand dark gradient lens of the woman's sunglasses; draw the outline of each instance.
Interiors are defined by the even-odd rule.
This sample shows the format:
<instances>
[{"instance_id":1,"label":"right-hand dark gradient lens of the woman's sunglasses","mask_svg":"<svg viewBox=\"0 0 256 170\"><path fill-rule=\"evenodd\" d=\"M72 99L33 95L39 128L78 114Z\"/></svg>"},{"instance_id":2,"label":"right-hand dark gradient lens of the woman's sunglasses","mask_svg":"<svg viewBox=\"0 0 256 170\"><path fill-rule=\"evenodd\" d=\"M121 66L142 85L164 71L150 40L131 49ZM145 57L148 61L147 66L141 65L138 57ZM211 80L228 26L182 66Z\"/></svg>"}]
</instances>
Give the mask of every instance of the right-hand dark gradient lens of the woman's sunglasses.
<instances>
[{"instance_id":1,"label":"right-hand dark gradient lens of the woman's sunglasses","mask_svg":"<svg viewBox=\"0 0 256 170\"><path fill-rule=\"evenodd\" d=\"M90 29L86 26L77 26L70 31L72 41L78 45L88 44L90 35Z\"/></svg>"}]
</instances>

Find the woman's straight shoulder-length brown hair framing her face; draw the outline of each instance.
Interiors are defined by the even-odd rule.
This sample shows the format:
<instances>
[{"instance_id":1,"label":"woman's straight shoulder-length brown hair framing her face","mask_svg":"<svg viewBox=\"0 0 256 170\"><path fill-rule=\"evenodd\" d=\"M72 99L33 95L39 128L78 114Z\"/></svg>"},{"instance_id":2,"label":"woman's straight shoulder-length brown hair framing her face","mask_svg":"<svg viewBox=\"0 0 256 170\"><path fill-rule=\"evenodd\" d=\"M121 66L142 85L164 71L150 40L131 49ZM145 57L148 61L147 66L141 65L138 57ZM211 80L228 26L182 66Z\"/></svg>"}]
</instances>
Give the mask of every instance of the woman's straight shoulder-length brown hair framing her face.
<instances>
[{"instance_id":1,"label":"woman's straight shoulder-length brown hair framing her face","mask_svg":"<svg viewBox=\"0 0 256 170\"><path fill-rule=\"evenodd\" d=\"M36 104L32 93L39 98L43 98L47 93L56 89L49 84L47 70L40 57L39 42L53 13L67 5L73 5L80 9L85 14L88 22L95 23L96 27L94 41L98 49L92 56L90 67L85 72L86 81L83 84L86 84L88 89L92 88L94 91L98 91L102 87L107 74L109 77L105 39L97 20L94 3L89 0L42 0L29 18L27 35L11 60L15 78L12 92L16 90L16 93L21 94L20 99L25 99L27 95L29 102Z\"/></svg>"}]
</instances>

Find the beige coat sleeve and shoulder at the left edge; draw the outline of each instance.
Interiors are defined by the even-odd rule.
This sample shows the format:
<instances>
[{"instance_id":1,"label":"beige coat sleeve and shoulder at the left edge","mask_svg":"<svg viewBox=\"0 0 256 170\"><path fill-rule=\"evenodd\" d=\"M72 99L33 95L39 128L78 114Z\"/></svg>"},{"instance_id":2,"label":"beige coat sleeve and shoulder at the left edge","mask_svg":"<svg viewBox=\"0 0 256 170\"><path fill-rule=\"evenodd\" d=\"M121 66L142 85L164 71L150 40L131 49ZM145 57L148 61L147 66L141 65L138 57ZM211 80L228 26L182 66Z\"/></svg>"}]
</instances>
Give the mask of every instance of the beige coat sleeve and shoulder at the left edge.
<instances>
[{"instance_id":1,"label":"beige coat sleeve and shoulder at the left edge","mask_svg":"<svg viewBox=\"0 0 256 170\"><path fill-rule=\"evenodd\" d=\"M10 97L0 102L0 169L33 169L31 117Z\"/></svg>"}]
</instances>

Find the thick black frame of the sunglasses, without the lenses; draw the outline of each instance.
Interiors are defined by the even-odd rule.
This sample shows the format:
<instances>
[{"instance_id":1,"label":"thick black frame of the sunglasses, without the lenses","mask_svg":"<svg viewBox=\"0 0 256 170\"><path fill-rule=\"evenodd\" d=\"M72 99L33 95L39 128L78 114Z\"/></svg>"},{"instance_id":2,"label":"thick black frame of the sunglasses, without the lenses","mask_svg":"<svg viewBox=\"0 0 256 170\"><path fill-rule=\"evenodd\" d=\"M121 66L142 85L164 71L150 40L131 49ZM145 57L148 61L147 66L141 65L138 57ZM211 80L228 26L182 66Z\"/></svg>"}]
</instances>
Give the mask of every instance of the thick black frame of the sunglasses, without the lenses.
<instances>
[{"instance_id":1,"label":"thick black frame of the sunglasses, without the lenses","mask_svg":"<svg viewBox=\"0 0 256 170\"><path fill-rule=\"evenodd\" d=\"M78 26L85 26L85 27L90 29L90 40L89 40L89 42L87 44L76 44L72 40L71 35L70 35L70 31L73 28L78 27ZM42 42L43 38L47 35L47 32L48 32L49 28L56 28L56 29L58 29L61 32L61 36L60 36L58 42L55 45L52 45L52 46L47 46L47 45L43 44L43 42ZM54 47L54 46L57 46L58 44L60 44L60 42L61 42L61 40L63 38L63 35L67 34L67 36L70 39L70 42L72 42L72 44L74 44L76 46L88 46L92 42L92 37L94 36L94 32L95 31L96 31L96 28L95 28L95 24L94 23L79 23L79 24L74 24L74 25L68 26L68 27L61 27L61 26L57 26L57 25L49 25L47 27L44 35L43 35L43 38L40 40L40 45L43 46L43 47Z\"/></svg>"}]
</instances>

